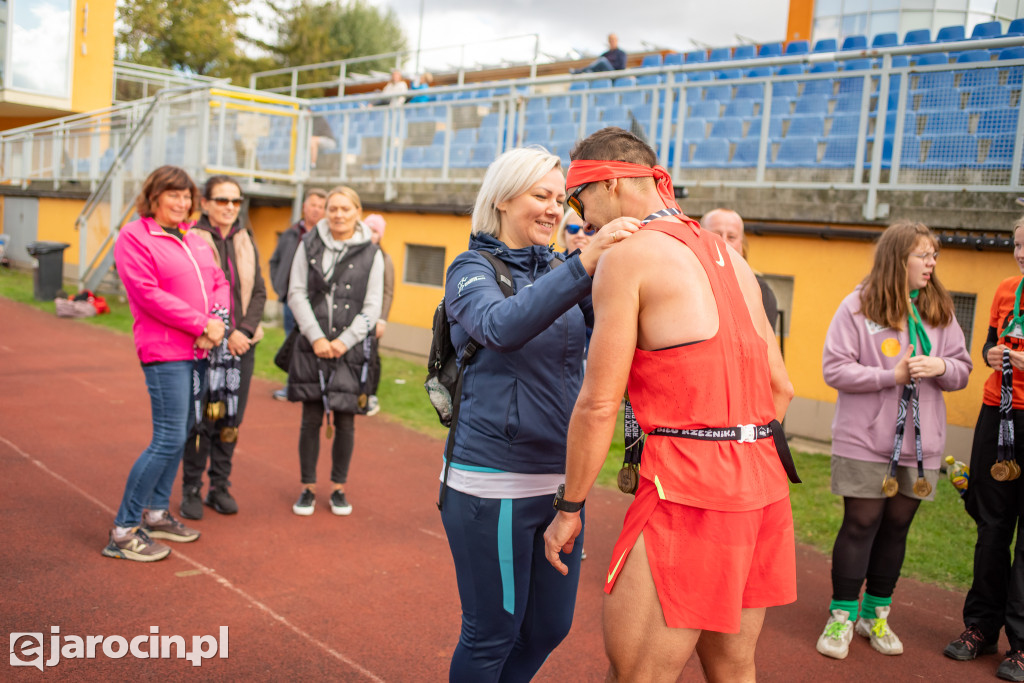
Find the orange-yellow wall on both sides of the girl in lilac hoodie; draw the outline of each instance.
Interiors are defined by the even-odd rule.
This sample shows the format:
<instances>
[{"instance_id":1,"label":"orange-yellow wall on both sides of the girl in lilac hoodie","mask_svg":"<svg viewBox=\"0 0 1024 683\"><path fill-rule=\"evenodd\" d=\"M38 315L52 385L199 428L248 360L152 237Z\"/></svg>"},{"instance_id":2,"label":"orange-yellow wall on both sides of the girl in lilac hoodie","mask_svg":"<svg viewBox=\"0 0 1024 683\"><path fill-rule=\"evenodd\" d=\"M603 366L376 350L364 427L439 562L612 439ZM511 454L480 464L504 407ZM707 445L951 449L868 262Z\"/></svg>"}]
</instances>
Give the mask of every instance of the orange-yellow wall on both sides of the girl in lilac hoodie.
<instances>
[{"instance_id":1,"label":"orange-yellow wall on both sides of the girl in lilac hoodie","mask_svg":"<svg viewBox=\"0 0 1024 683\"><path fill-rule=\"evenodd\" d=\"M794 279L785 365L797 395L836 402L836 390L825 384L821 375L825 334L840 302L870 269L873 245L820 238L749 236L749 240L752 266L768 274ZM941 254L936 273L946 289L977 295L969 349L974 371L967 388L945 394L949 423L974 427L982 387L992 372L981 359L988 334L988 309L998 284L1019 271L1009 253L945 249Z\"/></svg>"}]
</instances>

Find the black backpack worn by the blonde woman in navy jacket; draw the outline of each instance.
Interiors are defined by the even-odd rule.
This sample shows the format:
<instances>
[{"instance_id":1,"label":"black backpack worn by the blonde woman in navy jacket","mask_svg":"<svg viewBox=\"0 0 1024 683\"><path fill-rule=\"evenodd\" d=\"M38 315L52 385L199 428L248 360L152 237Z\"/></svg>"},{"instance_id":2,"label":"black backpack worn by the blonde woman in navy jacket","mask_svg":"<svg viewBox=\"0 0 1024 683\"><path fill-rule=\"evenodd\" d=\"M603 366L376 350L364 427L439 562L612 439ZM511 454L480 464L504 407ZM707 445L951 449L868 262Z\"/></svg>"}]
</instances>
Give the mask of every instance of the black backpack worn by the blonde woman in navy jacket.
<instances>
[{"instance_id":1,"label":"black backpack worn by the blonde woman in navy jacket","mask_svg":"<svg viewBox=\"0 0 1024 683\"><path fill-rule=\"evenodd\" d=\"M512 273L509 271L508 265L490 252L479 250L477 253L487 259L494 267L495 279L502 289L502 294L506 298L515 294L512 289ZM444 483L437 500L437 509L439 510L444 506L449 466L452 463L452 452L455 450L455 426L459 424L462 377L466 372L466 366L472 361L476 351L480 348L480 344L476 340L470 339L462 354L456 353L455 344L452 343L452 325L447 319L444 299L441 299L440 303L437 304L437 309L434 310L432 330L430 355L427 357L427 381L423 383L423 387L427 390L430 403L437 411L437 419L450 429L447 447L444 450Z\"/></svg>"}]
</instances>

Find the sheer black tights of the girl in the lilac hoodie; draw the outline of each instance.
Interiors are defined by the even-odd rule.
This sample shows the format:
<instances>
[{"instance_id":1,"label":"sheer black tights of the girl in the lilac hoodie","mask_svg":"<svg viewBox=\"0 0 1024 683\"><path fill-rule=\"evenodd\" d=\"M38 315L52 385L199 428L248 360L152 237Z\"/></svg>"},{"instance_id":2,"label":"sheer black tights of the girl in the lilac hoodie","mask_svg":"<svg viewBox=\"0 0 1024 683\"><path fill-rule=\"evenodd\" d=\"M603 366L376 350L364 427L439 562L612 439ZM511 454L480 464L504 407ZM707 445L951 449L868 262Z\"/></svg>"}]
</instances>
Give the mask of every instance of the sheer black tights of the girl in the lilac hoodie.
<instances>
[{"instance_id":1,"label":"sheer black tights of the girl in the lilac hoodie","mask_svg":"<svg viewBox=\"0 0 1024 683\"><path fill-rule=\"evenodd\" d=\"M843 525L833 547L834 600L857 600L865 578L868 593L892 596L920 505L920 500L902 494L843 499Z\"/></svg>"}]
</instances>

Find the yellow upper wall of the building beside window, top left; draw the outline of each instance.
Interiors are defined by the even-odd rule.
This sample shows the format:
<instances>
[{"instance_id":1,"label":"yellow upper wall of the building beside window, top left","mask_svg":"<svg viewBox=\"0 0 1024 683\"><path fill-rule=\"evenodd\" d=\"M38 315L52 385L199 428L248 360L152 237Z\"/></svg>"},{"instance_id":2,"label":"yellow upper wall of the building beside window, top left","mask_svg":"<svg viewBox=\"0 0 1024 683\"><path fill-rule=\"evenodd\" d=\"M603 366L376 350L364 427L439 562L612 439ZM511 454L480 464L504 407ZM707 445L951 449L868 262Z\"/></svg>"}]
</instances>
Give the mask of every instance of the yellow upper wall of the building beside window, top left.
<instances>
[{"instance_id":1,"label":"yellow upper wall of the building beside window, top left","mask_svg":"<svg viewBox=\"0 0 1024 683\"><path fill-rule=\"evenodd\" d=\"M74 112L91 112L111 105L114 15L115 0L78 0L76 3L71 90Z\"/></svg>"}]
</instances>

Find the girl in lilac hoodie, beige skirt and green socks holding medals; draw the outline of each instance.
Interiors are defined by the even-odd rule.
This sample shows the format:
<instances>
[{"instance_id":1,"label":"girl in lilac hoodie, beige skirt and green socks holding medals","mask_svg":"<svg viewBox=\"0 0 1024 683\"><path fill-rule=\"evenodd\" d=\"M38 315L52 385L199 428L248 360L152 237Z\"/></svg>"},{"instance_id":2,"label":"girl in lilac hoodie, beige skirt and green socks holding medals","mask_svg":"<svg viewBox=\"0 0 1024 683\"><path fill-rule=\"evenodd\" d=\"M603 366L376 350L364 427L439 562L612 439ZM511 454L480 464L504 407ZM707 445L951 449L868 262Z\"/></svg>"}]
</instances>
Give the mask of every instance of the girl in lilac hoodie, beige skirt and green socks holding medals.
<instances>
[{"instance_id":1,"label":"girl in lilac hoodie, beige skirt and green socks holding medals","mask_svg":"<svg viewBox=\"0 0 1024 683\"><path fill-rule=\"evenodd\" d=\"M935 497L946 439L942 392L963 389L971 373L952 299L935 274L938 250L921 223L889 226L871 271L825 336L824 379L839 391L831 490L844 512L817 650L837 659L854 632L883 654L903 651L888 617L906 535L921 501Z\"/></svg>"}]
</instances>

